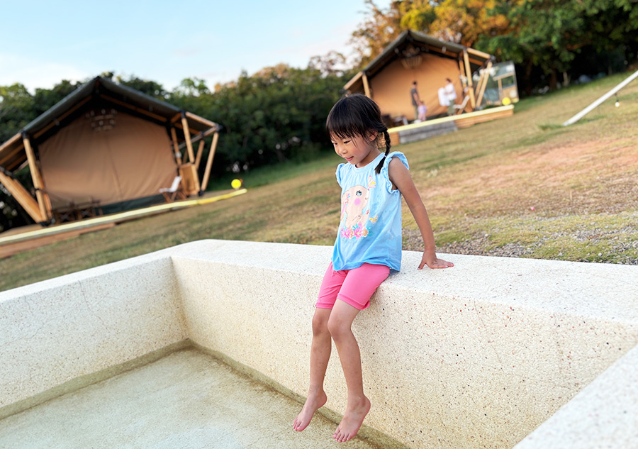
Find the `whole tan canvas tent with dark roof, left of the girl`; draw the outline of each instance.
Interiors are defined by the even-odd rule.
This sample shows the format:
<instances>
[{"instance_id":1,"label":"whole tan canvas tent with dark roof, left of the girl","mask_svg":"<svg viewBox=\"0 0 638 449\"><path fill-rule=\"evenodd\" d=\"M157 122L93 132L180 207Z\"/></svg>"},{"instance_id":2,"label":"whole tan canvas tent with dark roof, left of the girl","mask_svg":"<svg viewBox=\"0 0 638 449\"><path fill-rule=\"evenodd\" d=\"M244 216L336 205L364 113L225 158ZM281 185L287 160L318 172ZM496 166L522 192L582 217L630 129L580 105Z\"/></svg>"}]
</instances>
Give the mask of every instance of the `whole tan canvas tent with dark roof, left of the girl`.
<instances>
[{"instance_id":1,"label":"whole tan canvas tent with dark roof, left of the girl","mask_svg":"<svg viewBox=\"0 0 638 449\"><path fill-rule=\"evenodd\" d=\"M102 207L157 196L178 174L186 194L196 194L206 189L219 129L194 113L96 77L0 145L0 183L42 224L72 204ZM211 134L200 183L203 139ZM27 166L35 198L13 177Z\"/></svg>"}]
</instances>

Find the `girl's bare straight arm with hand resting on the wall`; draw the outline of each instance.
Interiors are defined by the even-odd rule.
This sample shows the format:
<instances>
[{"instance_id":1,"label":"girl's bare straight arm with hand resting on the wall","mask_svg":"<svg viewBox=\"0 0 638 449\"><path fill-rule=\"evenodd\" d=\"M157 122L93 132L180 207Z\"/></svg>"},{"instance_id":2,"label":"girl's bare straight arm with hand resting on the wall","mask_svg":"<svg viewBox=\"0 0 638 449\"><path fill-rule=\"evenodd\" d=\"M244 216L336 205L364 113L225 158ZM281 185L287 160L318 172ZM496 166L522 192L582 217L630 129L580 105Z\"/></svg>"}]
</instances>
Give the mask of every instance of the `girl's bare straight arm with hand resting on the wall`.
<instances>
[{"instance_id":1,"label":"girl's bare straight arm with hand resting on the wall","mask_svg":"<svg viewBox=\"0 0 638 449\"><path fill-rule=\"evenodd\" d=\"M412 212L412 215L419 226L419 231L421 231L425 250L423 250L423 257L421 258L419 270L425 265L430 268L454 267L452 262L447 262L446 260L437 258L434 233L432 233L430 217L427 216L425 205L423 204L421 196L414 185L408 168L403 165L401 160L394 158L388 165L388 175L392 184L394 184L399 192L401 192L403 198L405 198L405 202L408 203L410 212Z\"/></svg>"}]
</instances>

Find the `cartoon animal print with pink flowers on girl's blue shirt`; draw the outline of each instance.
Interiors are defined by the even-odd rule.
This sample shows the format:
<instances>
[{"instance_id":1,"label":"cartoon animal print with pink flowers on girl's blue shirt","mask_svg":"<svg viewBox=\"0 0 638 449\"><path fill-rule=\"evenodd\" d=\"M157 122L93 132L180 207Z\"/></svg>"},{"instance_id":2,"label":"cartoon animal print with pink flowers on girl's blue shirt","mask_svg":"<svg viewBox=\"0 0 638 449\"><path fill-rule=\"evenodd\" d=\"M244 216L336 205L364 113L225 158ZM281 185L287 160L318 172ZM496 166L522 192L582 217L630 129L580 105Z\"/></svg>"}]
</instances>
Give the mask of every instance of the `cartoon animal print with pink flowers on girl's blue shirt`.
<instances>
[{"instance_id":1,"label":"cartoon animal print with pink flowers on girl's blue shirt","mask_svg":"<svg viewBox=\"0 0 638 449\"><path fill-rule=\"evenodd\" d=\"M362 238L368 235L370 229L366 227L368 220L376 223L377 216L370 217L367 208L370 190L376 187L376 182L368 177L368 187L354 186L347 189L341 197L341 237Z\"/></svg>"}]
</instances>

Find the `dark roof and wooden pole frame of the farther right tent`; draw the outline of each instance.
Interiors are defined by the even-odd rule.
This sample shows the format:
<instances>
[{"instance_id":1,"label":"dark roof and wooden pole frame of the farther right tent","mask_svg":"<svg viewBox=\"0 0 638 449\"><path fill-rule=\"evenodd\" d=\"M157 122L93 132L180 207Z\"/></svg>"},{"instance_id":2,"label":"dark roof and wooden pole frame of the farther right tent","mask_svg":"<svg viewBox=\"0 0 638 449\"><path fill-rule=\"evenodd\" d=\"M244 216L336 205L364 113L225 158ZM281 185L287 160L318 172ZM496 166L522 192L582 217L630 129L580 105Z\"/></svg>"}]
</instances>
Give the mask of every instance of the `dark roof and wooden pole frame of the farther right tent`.
<instances>
[{"instance_id":1,"label":"dark roof and wooden pole frame of the farther right tent","mask_svg":"<svg viewBox=\"0 0 638 449\"><path fill-rule=\"evenodd\" d=\"M467 89L467 94L469 95L469 105L465 111L476 111L477 107L481 105L489 72L488 68L487 70L481 69L491 67L495 58L474 48L439 40L430 35L412 30L403 31L379 56L374 58L361 72L355 74L345 84L344 89L347 92L363 92L369 98L373 98L374 92L370 88L370 79L374 78L381 70L384 70L391 62L401 57L401 50L408 47L408 45L418 48L421 52L456 60L459 65L461 85L463 89ZM479 76L476 83L474 83L473 79L474 72L478 72Z\"/></svg>"}]
</instances>

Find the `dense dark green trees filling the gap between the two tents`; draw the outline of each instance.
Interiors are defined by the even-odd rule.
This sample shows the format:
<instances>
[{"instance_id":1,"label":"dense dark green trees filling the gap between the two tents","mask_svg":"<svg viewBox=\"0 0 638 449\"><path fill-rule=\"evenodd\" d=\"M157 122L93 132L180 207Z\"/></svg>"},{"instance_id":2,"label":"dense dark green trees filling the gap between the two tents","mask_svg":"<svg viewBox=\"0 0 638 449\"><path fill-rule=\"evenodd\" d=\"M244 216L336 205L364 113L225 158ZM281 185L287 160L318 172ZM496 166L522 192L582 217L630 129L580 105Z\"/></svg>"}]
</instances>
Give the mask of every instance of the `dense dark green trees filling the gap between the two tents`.
<instances>
[{"instance_id":1,"label":"dense dark green trees filling the gap between the two tents","mask_svg":"<svg viewBox=\"0 0 638 449\"><path fill-rule=\"evenodd\" d=\"M337 55L327 57L335 65L340 61ZM214 92L201 80L185 79L168 101L223 126L213 174L308 160L327 142L325 117L346 81L332 62L318 67L319 60L313 58L306 69L280 64L252 76L242 72Z\"/></svg>"}]
</instances>

